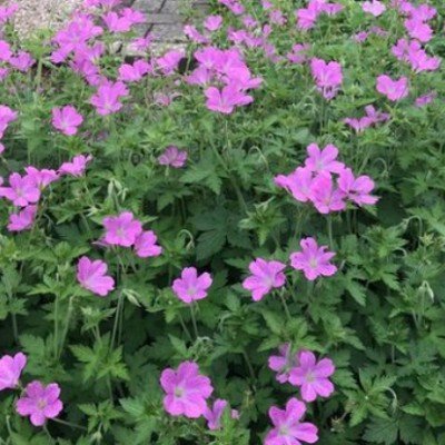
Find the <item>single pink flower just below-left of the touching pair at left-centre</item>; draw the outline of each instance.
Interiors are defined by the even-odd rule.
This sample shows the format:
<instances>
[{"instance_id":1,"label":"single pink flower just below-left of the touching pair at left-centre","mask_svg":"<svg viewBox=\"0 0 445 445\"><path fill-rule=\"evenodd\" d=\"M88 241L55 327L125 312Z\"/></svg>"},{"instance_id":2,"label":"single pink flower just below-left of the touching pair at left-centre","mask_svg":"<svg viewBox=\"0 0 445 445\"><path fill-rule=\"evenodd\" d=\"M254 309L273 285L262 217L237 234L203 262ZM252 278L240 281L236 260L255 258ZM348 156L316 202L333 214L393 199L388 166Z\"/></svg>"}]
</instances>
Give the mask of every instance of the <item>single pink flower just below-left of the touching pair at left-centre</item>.
<instances>
[{"instance_id":1,"label":"single pink flower just below-left of the touching pair at left-centre","mask_svg":"<svg viewBox=\"0 0 445 445\"><path fill-rule=\"evenodd\" d=\"M77 265L77 280L80 286L101 297L107 296L115 288L115 280L107 274L108 266L100 259L91 261L81 257Z\"/></svg>"}]
</instances>

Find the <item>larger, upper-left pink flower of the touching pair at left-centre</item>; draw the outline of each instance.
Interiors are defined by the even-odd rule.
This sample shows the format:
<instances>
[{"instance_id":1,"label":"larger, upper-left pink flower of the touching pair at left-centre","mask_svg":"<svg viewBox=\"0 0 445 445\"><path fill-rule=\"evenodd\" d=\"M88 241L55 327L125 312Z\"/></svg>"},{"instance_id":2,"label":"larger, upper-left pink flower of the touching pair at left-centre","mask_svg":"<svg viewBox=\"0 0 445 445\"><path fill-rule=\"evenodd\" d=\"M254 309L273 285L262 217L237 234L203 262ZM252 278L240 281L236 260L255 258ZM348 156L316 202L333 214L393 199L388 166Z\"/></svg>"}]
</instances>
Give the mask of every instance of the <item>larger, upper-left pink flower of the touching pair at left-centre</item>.
<instances>
[{"instance_id":1,"label":"larger, upper-left pink flower of the touching pair at left-centre","mask_svg":"<svg viewBox=\"0 0 445 445\"><path fill-rule=\"evenodd\" d=\"M108 216L102 220L107 229L103 241L109 246L130 247L142 234L142 224L135 219L131 211L118 216Z\"/></svg>"}]
</instances>

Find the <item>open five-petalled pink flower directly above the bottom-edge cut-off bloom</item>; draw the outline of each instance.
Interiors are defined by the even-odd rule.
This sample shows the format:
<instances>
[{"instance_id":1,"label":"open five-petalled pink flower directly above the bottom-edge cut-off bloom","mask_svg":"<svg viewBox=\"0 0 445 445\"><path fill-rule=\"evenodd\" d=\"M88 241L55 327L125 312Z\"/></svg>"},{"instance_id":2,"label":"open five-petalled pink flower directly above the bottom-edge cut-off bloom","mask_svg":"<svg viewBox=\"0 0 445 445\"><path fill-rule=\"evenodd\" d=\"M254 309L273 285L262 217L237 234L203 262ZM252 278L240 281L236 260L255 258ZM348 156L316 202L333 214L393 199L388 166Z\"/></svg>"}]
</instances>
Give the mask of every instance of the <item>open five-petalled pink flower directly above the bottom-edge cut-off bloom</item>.
<instances>
[{"instance_id":1,"label":"open five-petalled pink flower directly above the bottom-edge cut-off bloom","mask_svg":"<svg viewBox=\"0 0 445 445\"><path fill-rule=\"evenodd\" d=\"M316 363L315 355L309 350L298 354L298 366L290 372L289 382L300 386L301 398L314 402L317 396L329 397L334 393L334 385L328 379L335 373L335 366L329 358Z\"/></svg>"}]
</instances>

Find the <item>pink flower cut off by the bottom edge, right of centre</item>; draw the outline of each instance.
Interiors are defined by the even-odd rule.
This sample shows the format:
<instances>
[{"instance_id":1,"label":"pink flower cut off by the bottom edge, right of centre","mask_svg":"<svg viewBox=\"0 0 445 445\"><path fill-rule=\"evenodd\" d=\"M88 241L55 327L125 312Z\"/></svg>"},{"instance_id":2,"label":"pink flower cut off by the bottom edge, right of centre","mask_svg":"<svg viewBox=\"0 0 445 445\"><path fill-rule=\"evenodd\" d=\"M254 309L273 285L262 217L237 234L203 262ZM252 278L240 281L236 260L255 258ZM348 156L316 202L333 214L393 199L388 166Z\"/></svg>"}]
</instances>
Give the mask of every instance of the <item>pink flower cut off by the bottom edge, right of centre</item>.
<instances>
[{"instance_id":1,"label":"pink flower cut off by the bottom edge, right of centre","mask_svg":"<svg viewBox=\"0 0 445 445\"><path fill-rule=\"evenodd\" d=\"M301 445L301 442L315 444L318 441L318 429L314 424L300 422L306 413L306 405L297 398L290 398L285 409L273 406L269 417L274 424L265 445Z\"/></svg>"}]
</instances>

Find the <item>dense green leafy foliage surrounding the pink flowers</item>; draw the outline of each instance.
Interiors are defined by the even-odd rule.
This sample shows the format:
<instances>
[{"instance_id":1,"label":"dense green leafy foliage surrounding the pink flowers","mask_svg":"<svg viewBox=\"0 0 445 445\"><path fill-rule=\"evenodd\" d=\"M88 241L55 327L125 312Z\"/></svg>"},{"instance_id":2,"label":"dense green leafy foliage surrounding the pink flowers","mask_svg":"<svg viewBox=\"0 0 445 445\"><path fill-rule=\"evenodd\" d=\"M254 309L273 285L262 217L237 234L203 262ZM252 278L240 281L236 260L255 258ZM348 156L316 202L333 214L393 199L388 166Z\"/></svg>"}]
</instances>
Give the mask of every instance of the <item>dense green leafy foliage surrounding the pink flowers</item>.
<instances>
[{"instance_id":1,"label":"dense green leafy foliage surrounding the pink flowers","mask_svg":"<svg viewBox=\"0 0 445 445\"><path fill-rule=\"evenodd\" d=\"M256 1L244 3L261 19ZM50 61L48 37L20 43L37 65L1 83L0 103L19 116L3 137L0 175L7 180L29 165L57 169L78 154L93 160L83 176L65 176L44 190L31 230L9 233L11 206L0 201L0 350L28 356L23 382L57 382L65 405L59 419L77 425L33 427L16 414L17 394L2 392L1 443L259 444L269 406L297 394L267 366L286 342L336 365L334 395L308 405L306 416L319 427L320 444L445 443L444 72L414 75L390 55L406 33L394 8L374 18L344 0L342 13L320 17L303 33L293 19L301 4L278 3L289 22L269 40L279 55L310 42L310 56L338 61L344 79L335 99L316 91L307 65L273 62L254 48L245 57L263 78L250 92L255 101L231 115L209 111L200 88L175 83L189 73L191 43L182 72L131 83L123 108L103 117L89 103L95 88ZM441 57L445 10L433 3L437 32L427 49ZM215 8L224 29L240 26ZM375 21L389 36L353 40ZM225 31L215 36L214 46L229 46ZM108 48L113 39L102 36ZM116 78L122 60L107 51L102 72ZM409 78L406 99L390 102L376 92L375 79L385 72ZM438 98L415 107L431 90ZM154 100L171 91L180 96L170 106ZM68 103L85 118L70 137L51 126L51 109ZM389 121L360 134L345 126L344 118L370 103L390 113ZM334 144L339 160L373 178L377 205L320 215L278 188L274 177L303 165L312 142ZM171 145L188 151L181 169L157 161ZM123 210L156 233L162 255L137 258L92 244L103 234L103 217ZM288 263L308 236L336 253L337 274L308 281L287 271L286 287L253 301L241 287L249 263ZM79 286L82 255L108 264L116 290L106 298ZM171 290L186 266L214 277L195 307L198 338L189 308ZM202 419L165 413L160 372L188 359L240 412L239 421L226 418L220 431L208 432Z\"/></svg>"}]
</instances>

